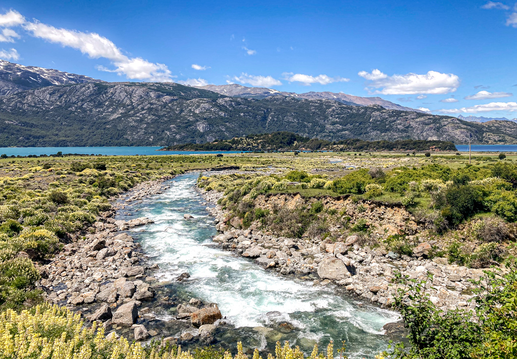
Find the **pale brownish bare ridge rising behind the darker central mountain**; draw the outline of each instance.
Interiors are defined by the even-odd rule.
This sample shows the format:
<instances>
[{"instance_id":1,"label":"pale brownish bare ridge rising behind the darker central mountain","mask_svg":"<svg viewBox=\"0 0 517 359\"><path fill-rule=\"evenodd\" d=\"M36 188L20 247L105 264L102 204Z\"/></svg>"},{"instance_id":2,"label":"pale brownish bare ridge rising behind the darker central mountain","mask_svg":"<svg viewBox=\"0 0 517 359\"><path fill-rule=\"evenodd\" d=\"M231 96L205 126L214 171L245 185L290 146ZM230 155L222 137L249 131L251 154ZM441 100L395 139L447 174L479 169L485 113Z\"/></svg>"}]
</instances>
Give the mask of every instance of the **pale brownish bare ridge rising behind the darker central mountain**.
<instances>
[{"instance_id":1,"label":"pale brownish bare ridge rising behind the darker central mountain","mask_svg":"<svg viewBox=\"0 0 517 359\"><path fill-rule=\"evenodd\" d=\"M295 92L283 92L271 88L266 87L246 87L238 84L230 84L230 85L206 85L206 86L193 86L196 88L201 88L204 90L214 91L220 93L221 95L232 96L232 97L242 97L242 98L252 98L252 99L265 99L269 96L287 96L287 97L295 97L298 99L306 99L306 100L334 100L345 105L352 106L371 106L371 105L381 105L387 110L399 110L399 111L413 111L424 113L423 111L416 110L415 108L401 106L399 104L384 100L380 97L360 97L353 95L346 95L346 93L342 92L305 92L305 93L295 93Z\"/></svg>"}]
</instances>

